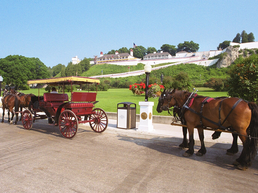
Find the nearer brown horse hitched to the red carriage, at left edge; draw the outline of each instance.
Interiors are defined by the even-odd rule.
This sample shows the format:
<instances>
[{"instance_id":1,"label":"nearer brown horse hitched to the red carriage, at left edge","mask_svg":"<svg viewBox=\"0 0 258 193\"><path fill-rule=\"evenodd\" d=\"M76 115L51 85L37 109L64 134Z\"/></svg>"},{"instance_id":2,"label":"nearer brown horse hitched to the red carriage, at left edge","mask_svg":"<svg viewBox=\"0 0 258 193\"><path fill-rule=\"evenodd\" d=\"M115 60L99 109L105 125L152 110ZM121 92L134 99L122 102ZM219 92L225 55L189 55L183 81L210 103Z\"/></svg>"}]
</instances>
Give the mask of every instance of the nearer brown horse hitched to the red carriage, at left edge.
<instances>
[{"instance_id":1,"label":"nearer brown horse hitched to the red carriage, at left edge","mask_svg":"<svg viewBox=\"0 0 258 193\"><path fill-rule=\"evenodd\" d=\"M19 107L21 104L20 97L17 96L16 94L7 93L7 91L4 91L3 98L2 98L2 104L3 104L2 123L4 122L4 111L5 111L5 109L7 109L7 110L9 110L9 115L10 115L10 112L12 113L11 120L10 120L10 117L8 117L8 122L10 122L10 125L12 125L14 112L19 111ZM14 108L14 112L13 112L13 108ZM15 119L14 125L16 125L17 121L18 121L18 113L15 113L15 114L16 114L16 119Z\"/></svg>"}]
</instances>

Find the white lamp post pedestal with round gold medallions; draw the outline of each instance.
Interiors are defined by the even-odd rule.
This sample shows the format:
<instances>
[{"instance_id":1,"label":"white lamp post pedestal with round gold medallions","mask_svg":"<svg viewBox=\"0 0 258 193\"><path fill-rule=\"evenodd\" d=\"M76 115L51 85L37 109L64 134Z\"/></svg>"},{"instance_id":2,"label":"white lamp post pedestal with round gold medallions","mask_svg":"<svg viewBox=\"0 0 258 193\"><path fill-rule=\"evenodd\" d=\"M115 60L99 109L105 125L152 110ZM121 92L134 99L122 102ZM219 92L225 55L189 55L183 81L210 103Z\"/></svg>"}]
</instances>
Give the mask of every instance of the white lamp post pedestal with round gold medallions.
<instances>
[{"instance_id":1,"label":"white lamp post pedestal with round gold medallions","mask_svg":"<svg viewBox=\"0 0 258 193\"><path fill-rule=\"evenodd\" d=\"M137 131L154 131L152 125L152 107L154 102L140 101L140 125Z\"/></svg>"}]
</instances>

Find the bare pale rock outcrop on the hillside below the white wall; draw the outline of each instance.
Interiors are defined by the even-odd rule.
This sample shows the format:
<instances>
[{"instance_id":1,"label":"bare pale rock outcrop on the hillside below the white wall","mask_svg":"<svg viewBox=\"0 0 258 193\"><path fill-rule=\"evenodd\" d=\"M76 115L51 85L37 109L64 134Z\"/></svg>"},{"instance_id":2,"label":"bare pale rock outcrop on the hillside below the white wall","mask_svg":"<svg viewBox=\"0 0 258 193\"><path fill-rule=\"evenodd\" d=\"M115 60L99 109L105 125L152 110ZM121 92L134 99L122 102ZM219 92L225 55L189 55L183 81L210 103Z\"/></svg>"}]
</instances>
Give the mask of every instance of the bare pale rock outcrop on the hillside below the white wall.
<instances>
[{"instance_id":1,"label":"bare pale rock outcrop on the hillside below the white wall","mask_svg":"<svg viewBox=\"0 0 258 193\"><path fill-rule=\"evenodd\" d=\"M235 59L238 58L238 47L234 48L233 46L229 46L224 53L227 54L219 59L219 62L217 63L217 68L230 66L230 64L232 64Z\"/></svg>"}]
</instances>

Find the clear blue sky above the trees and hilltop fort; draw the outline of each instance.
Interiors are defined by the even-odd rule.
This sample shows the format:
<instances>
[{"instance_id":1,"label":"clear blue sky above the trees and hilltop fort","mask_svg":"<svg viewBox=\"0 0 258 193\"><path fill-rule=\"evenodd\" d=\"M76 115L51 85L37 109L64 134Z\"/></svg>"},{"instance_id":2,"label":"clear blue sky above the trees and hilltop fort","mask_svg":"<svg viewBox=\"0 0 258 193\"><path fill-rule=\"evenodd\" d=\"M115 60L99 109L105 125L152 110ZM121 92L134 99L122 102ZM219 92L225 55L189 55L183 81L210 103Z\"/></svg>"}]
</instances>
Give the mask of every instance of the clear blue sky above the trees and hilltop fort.
<instances>
[{"instance_id":1,"label":"clear blue sky above the trees and hilltop fort","mask_svg":"<svg viewBox=\"0 0 258 193\"><path fill-rule=\"evenodd\" d=\"M111 49L193 40L216 50L237 33L258 41L257 1L0 1L0 58L67 64Z\"/></svg>"}]
</instances>

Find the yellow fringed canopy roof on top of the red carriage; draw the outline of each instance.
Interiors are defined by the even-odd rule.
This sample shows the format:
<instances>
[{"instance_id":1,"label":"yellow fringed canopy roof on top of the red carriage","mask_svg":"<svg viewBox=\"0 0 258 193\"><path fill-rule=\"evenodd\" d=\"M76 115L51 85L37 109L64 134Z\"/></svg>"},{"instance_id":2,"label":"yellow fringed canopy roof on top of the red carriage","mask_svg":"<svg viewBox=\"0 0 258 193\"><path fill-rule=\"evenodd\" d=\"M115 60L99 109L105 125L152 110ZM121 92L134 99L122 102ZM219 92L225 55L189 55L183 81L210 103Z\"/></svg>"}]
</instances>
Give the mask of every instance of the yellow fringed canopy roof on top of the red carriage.
<instances>
[{"instance_id":1,"label":"yellow fringed canopy roof on top of the red carriage","mask_svg":"<svg viewBox=\"0 0 258 193\"><path fill-rule=\"evenodd\" d=\"M70 84L93 84L100 83L97 78L89 78L82 76L66 76L58 78L47 78L47 79L38 79L38 80L29 80L27 84L50 84L50 85L70 85Z\"/></svg>"}]
</instances>

